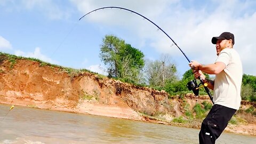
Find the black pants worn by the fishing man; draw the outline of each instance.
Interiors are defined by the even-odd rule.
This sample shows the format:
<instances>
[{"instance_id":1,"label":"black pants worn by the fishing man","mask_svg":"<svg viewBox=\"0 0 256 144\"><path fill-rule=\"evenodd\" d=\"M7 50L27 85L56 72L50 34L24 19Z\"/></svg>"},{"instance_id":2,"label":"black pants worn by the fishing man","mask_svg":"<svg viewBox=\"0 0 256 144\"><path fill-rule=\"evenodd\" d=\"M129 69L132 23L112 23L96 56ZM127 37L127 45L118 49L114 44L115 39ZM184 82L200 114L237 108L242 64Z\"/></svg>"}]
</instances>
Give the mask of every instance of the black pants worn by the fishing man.
<instances>
[{"instance_id":1,"label":"black pants worn by the fishing man","mask_svg":"<svg viewBox=\"0 0 256 144\"><path fill-rule=\"evenodd\" d=\"M227 127L229 120L235 114L236 109L221 105L213 105L209 114L205 117L199 132L199 143L215 143L220 134Z\"/></svg>"}]
</instances>

